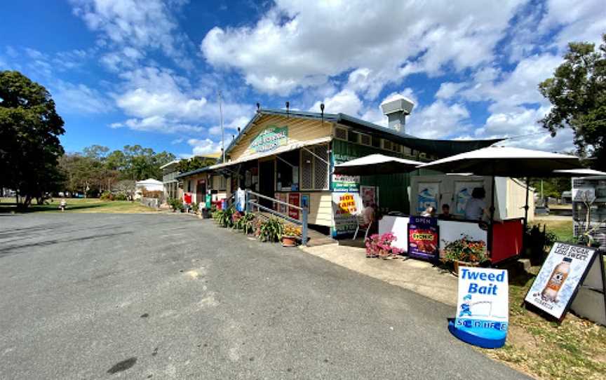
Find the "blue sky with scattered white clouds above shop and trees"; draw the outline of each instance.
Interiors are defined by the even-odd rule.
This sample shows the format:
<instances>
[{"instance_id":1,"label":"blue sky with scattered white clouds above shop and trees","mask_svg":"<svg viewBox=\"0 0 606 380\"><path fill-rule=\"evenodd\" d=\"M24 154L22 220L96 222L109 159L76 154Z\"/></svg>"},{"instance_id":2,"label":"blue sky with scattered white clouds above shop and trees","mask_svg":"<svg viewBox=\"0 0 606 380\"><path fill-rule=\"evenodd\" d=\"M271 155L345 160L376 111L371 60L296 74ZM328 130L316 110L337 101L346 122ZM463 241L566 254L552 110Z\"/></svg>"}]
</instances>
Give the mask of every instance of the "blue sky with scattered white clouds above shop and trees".
<instances>
[{"instance_id":1,"label":"blue sky with scattered white clouds above shop and trees","mask_svg":"<svg viewBox=\"0 0 606 380\"><path fill-rule=\"evenodd\" d=\"M405 131L511 137L563 151L537 121L537 86L570 41L596 45L603 0L5 1L0 69L45 86L66 151L140 144L188 157L226 146L263 108L344 112L386 125L379 105L415 102Z\"/></svg>"}]
</instances>

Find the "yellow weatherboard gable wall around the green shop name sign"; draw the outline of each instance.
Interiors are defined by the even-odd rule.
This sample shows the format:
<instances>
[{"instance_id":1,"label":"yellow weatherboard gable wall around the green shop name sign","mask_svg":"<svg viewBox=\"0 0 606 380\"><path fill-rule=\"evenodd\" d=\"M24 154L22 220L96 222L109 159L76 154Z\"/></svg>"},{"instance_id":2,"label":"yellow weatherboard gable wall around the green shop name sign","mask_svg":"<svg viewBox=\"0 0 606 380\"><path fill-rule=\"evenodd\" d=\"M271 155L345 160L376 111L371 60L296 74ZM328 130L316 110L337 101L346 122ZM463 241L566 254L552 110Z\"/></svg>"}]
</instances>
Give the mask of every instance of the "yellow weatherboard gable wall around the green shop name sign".
<instances>
[{"instance_id":1,"label":"yellow weatherboard gable wall around the green shop name sign","mask_svg":"<svg viewBox=\"0 0 606 380\"><path fill-rule=\"evenodd\" d=\"M322 123L322 121L308 118L286 118L277 115L263 115L257 121L256 125L246 132L246 135L242 137L236 147L229 151L231 161L249 156L251 153L250 151L247 152L248 147L255 137L269 125L275 125L278 128L288 126L288 144L332 135L332 123L328 123L327 121Z\"/></svg>"}]
</instances>

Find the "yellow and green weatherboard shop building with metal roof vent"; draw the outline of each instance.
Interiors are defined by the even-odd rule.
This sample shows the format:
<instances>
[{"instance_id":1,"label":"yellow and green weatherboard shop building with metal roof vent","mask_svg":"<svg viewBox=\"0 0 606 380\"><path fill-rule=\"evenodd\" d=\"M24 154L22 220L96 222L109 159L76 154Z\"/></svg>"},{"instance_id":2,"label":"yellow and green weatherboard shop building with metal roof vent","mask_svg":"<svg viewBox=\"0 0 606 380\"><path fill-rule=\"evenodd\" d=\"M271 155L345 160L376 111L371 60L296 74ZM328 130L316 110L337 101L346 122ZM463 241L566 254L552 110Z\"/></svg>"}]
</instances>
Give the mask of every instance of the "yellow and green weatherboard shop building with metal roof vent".
<instances>
[{"instance_id":1,"label":"yellow and green weatherboard shop building with metal roof vent","mask_svg":"<svg viewBox=\"0 0 606 380\"><path fill-rule=\"evenodd\" d=\"M409 212L410 176L422 174L332 175L337 163L369 154L432 161L487 147L498 140L425 140L405 133L412 102L404 97L382 104L388 127L346 114L257 109L227 147L225 162L177 176L183 191L201 201L207 190L218 199L240 187L308 209L309 224L330 228L332 236L351 233L355 222L341 219L343 206L361 208L361 189L375 189L382 212ZM429 173L429 172L428 172ZM355 199L354 199L355 198ZM263 201L262 201L263 203ZM267 202L271 207L271 201ZM285 206L284 206L285 208Z\"/></svg>"}]
</instances>

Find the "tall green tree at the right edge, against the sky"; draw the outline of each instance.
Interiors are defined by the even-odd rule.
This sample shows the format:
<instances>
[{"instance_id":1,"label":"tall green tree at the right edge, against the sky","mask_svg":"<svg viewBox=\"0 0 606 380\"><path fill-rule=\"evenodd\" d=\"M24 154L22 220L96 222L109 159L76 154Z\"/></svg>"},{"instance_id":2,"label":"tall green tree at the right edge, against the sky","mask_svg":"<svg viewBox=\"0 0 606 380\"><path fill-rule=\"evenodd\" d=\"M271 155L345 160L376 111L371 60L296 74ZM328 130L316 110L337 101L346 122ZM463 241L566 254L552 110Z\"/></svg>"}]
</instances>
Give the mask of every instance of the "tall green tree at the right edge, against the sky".
<instances>
[{"instance_id":1,"label":"tall green tree at the right edge, against the sky","mask_svg":"<svg viewBox=\"0 0 606 380\"><path fill-rule=\"evenodd\" d=\"M539 84L539 91L553 108L539 122L552 136L562 128L574 131L580 156L591 166L606 170L606 34L595 51L593 43L572 42L553 78Z\"/></svg>"}]
</instances>

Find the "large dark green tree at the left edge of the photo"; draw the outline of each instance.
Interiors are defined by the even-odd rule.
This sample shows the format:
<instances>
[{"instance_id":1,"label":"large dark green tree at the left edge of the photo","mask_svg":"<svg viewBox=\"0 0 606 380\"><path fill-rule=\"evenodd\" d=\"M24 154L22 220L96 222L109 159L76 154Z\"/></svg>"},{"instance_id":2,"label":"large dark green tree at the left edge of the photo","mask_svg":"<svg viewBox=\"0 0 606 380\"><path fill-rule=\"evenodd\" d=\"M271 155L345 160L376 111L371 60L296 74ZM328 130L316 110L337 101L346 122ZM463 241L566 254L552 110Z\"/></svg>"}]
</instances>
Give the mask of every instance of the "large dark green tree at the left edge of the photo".
<instances>
[{"instance_id":1,"label":"large dark green tree at the left edge of the photo","mask_svg":"<svg viewBox=\"0 0 606 380\"><path fill-rule=\"evenodd\" d=\"M21 207L59 188L63 133L46 88L20 72L0 72L0 186L15 189Z\"/></svg>"}]
</instances>

